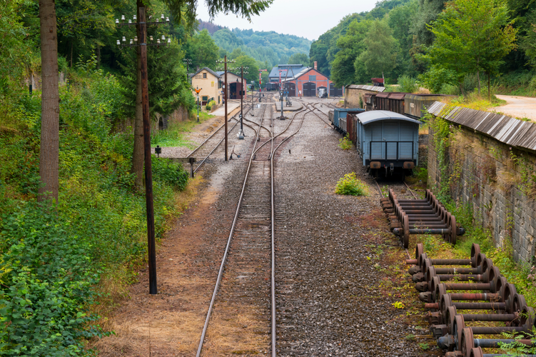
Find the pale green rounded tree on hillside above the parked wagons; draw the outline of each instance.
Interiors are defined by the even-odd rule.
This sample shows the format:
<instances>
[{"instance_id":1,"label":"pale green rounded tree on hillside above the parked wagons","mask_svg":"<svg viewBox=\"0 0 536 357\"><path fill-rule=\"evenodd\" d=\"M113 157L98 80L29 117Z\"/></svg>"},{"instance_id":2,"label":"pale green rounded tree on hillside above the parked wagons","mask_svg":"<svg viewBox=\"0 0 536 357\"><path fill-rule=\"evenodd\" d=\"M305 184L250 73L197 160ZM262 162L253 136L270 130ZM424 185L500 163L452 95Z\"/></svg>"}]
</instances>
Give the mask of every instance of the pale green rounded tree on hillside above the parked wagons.
<instances>
[{"instance_id":1,"label":"pale green rounded tree on hillside above the parked wagons","mask_svg":"<svg viewBox=\"0 0 536 357\"><path fill-rule=\"evenodd\" d=\"M398 53L398 41L393 37L393 30L387 21L375 20L370 24L365 39L363 39L365 51L358 59L370 76L382 75L392 71L396 66Z\"/></svg>"}]
</instances>

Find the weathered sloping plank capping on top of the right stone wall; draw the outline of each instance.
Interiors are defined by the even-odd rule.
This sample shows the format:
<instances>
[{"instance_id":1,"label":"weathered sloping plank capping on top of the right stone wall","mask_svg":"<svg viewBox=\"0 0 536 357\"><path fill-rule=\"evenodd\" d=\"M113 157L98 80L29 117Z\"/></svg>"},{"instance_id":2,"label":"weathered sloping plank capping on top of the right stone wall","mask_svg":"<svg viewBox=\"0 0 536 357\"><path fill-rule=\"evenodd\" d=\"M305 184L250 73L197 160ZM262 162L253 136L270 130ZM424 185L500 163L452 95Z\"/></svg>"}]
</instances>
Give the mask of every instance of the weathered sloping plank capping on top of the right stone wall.
<instances>
[{"instance_id":1,"label":"weathered sloping plank capping on top of the right stone wall","mask_svg":"<svg viewBox=\"0 0 536 357\"><path fill-rule=\"evenodd\" d=\"M428 112L491 136L509 146L536 151L536 123L488 111L448 106L439 101L434 102Z\"/></svg>"}]
</instances>

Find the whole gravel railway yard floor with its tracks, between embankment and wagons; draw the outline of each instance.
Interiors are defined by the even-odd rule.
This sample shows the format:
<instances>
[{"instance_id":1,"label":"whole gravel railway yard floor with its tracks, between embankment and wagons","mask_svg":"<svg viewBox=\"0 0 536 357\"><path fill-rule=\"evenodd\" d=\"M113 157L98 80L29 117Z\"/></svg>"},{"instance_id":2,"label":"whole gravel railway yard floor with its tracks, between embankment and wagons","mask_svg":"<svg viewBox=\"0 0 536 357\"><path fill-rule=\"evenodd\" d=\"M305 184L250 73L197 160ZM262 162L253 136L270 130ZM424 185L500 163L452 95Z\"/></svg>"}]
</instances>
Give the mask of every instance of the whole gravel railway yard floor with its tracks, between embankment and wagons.
<instances>
[{"instance_id":1,"label":"whole gravel railway yard floor with its tracks, between embankment and wagons","mask_svg":"<svg viewBox=\"0 0 536 357\"><path fill-rule=\"evenodd\" d=\"M204 134L193 134L201 144L189 154L197 158L197 195L157 251L158 295L146 294L148 271L140 271L131 298L112 318L116 335L97 343L102 356L444 356L446 349L434 346L452 328L444 321L455 303L442 303L443 310L433 305L446 290L435 294L439 281L433 283L435 273L427 271L432 263L415 246L414 233L430 233L415 223L422 216L409 218L411 239L404 232L408 205L441 208L431 198L413 201L417 196L402 181L377 181L355 149L338 148L341 135L328 121L336 101L295 101L303 108L285 113L286 120L277 119L271 98L256 105L255 116L246 106L244 140L236 135L238 114L231 117L233 155L227 162L218 144L223 121L201 124ZM163 156L173 150L184 152L164 148ZM334 193L335 183L350 172L368 184L368 196ZM382 205L381 186L390 189ZM417 195L425 197L423 188ZM451 241L456 223L443 214L429 228L443 229ZM408 261L417 264L410 272L418 285L428 284L420 288L432 291L425 296L405 265L414 256L423 262ZM465 262L472 266L466 270L489 279L492 263L482 270L485 256L478 264L476 259ZM445 271L438 268L438 274ZM504 294L502 284L502 292L491 292ZM505 304L512 315L510 295ZM434 326L445 324L443 330L429 330L419 297L431 311L443 311L443 319L437 312L430 319ZM450 342L450 351L457 343Z\"/></svg>"}]
</instances>

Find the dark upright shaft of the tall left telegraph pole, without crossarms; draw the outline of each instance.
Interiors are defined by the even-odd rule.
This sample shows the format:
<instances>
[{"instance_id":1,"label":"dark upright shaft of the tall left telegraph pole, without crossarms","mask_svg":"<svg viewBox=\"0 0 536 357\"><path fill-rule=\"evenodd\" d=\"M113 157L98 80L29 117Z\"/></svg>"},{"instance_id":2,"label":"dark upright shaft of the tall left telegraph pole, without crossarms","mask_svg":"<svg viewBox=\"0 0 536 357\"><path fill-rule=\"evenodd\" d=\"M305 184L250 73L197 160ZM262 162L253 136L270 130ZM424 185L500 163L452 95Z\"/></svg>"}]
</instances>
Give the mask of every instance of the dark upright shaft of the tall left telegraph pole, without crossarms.
<instances>
[{"instance_id":1,"label":"dark upright shaft of the tall left telegraph pole, without crossarms","mask_svg":"<svg viewBox=\"0 0 536 357\"><path fill-rule=\"evenodd\" d=\"M149 265L149 293L156 294L156 247L154 241L153 173L151 166L151 122L149 121L149 94L147 83L147 24L145 7L140 9L141 106L143 109L143 151L145 155L145 198L147 208L147 250Z\"/></svg>"}]
</instances>

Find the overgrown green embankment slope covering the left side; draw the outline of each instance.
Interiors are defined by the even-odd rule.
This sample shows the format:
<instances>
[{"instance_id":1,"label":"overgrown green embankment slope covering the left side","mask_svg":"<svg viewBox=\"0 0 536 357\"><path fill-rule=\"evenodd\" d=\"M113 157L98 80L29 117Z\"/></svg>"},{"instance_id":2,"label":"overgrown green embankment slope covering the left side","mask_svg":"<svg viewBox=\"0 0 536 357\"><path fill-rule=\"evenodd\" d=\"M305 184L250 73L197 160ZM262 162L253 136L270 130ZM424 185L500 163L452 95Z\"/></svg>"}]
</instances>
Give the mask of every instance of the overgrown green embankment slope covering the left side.
<instances>
[{"instance_id":1,"label":"overgrown green embankment slope covering the left side","mask_svg":"<svg viewBox=\"0 0 536 357\"><path fill-rule=\"evenodd\" d=\"M126 291L146 256L143 192L129 174L133 138L113 130L124 119L124 90L91 66L60 86L60 190L39 205L41 97L0 96L0 355L85 356L104 332L91 311ZM181 166L153 159L156 236L188 183ZM106 281L106 283L102 283Z\"/></svg>"}]
</instances>

